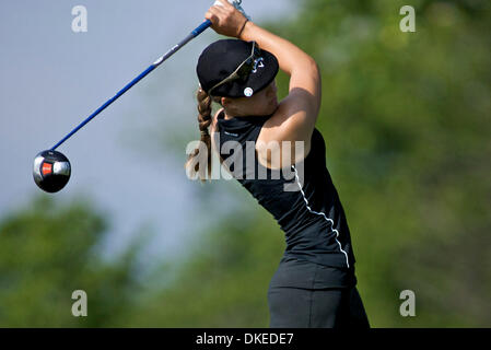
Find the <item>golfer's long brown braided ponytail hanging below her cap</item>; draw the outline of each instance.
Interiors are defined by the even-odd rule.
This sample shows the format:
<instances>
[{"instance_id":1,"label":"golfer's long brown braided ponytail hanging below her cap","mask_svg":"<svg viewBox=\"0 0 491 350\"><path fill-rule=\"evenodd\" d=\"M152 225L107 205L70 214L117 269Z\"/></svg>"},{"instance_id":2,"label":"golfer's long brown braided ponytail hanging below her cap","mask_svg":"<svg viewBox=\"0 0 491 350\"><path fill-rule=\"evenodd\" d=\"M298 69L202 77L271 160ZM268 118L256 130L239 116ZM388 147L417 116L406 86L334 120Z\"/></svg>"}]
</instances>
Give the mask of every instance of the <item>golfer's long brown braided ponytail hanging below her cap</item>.
<instances>
[{"instance_id":1,"label":"golfer's long brown braided ponytail hanging below her cap","mask_svg":"<svg viewBox=\"0 0 491 350\"><path fill-rule=\"evenodd\" d=\"M190 176L195 177L196 174L198 174L201 182L204 182L207 178L207 175L208 175L208 177L211 176L211 136L210 136L208 128L211 125L212 98L200 86L198 89L198 92L196 93L196 100L198 101L198 113L199 113L198 114L198 124L199 124L199 131L201 133L200 144L204 143L207 147L207 151L208 151L207 160L206 160L206 162L202 162L203 160L201 160L201 159L199 159L198 161L195 160L197 156L202 158L202 155L199 155L200 149L197 148L189 155L185 167L188 171L188 174ZM195 166L192 166L194 164L195 164Z\"/></svg>"}]
</instances>

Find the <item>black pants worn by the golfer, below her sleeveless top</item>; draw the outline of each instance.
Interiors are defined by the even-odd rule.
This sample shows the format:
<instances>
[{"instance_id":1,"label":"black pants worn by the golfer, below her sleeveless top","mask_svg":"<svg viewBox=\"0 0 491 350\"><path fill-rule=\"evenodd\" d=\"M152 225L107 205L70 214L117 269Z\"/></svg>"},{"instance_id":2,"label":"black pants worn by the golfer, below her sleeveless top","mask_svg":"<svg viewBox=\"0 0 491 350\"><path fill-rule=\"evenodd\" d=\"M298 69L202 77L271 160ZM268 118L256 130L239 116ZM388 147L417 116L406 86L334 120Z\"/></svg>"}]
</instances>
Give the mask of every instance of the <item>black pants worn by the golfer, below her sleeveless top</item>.
<instances>
[{"instance_id":1,"label":"black pants worn by the golfer, below her sleeveless top","mask_svg":"<svg viewBox=\"0 0 491 350\"><path fill-rule=\"evenodd\" d=\"M354 270L283 259L268 305L271 328L370 328Z\"/></svg>"}]
</instances>

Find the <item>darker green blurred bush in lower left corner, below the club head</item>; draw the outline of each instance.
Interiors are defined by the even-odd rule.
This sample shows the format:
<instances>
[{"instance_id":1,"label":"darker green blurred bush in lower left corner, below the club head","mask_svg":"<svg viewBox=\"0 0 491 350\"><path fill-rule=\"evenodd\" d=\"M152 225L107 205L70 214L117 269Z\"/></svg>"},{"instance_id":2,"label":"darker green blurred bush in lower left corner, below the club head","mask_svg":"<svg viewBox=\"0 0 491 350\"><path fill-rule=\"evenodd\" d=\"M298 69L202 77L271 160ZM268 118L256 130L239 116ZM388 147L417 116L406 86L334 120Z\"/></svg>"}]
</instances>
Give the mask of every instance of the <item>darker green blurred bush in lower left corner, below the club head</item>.
<instances>
[{"instance_id":1,"label":"darker green blurred bush in lower left corner, below the club head","mask_svg":"<svg viewBox=\"0 0 491 350\"><path fill-rule=\"evenodd\" d=\"M121 325L138 290L132 244L113 261L98 257L107 222L89 202L37 197L0 224L0 327ZM72 293L87 294L89 317L73 317Z\"/></svg>"}]
</instances>

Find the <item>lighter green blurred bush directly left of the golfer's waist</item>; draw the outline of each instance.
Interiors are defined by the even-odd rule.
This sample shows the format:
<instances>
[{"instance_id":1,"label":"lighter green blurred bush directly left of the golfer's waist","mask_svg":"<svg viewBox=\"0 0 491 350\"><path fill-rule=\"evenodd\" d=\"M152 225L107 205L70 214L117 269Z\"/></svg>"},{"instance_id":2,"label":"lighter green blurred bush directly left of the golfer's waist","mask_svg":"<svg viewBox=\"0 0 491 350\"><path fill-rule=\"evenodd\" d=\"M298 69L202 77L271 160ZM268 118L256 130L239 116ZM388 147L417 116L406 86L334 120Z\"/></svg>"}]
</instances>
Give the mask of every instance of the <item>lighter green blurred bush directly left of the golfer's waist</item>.
<instances>
[{"instance_id":1,"label":"lighter green blurred bush directly left of the golfer's waist","mask_svg":"<svg viewBox=\"0 0 491 350\"><path fill-rule=\"evenodd\" d=\"M197 237L178 278L149 295L129 326L268 327L267 290L283 250L271 218L225 219Z\"/></svg>"}]
</instances>

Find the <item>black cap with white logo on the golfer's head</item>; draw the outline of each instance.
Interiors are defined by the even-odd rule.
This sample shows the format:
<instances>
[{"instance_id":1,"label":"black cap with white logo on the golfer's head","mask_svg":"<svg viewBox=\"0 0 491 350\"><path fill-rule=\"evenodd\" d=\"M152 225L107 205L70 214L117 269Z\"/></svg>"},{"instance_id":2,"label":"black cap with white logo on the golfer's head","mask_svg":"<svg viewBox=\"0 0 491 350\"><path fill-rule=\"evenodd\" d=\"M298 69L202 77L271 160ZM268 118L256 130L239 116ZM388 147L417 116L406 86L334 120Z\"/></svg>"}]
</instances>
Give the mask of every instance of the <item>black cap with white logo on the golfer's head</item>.
<instances>
[{"instance_id":1,"label":"black cap with white logo on the golfer's head","mask_svg":"<svg viewBox=\"0 0 491 350\"><path fill-rule=\"evenodd\" d=\"M222 39L210 44L201 52L196 67L201 89L209 93L211 88L232 74L252 50L253 42ZM278 73L278 59L267 50L259 52L255 69L245 81L238 79L222 84L213 89L213 96L250 97L268 86Z\"/></svg>"}]
</instances>

